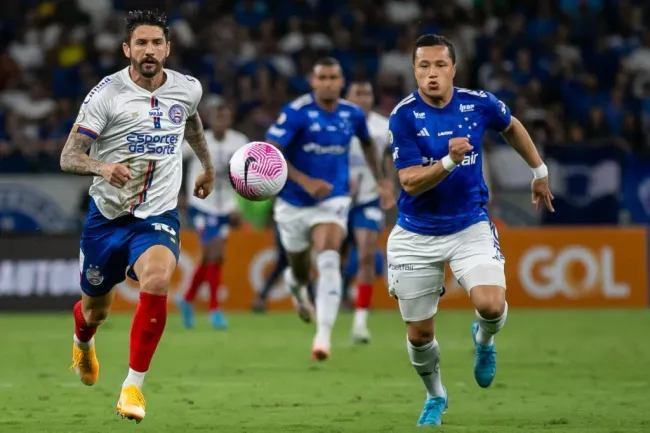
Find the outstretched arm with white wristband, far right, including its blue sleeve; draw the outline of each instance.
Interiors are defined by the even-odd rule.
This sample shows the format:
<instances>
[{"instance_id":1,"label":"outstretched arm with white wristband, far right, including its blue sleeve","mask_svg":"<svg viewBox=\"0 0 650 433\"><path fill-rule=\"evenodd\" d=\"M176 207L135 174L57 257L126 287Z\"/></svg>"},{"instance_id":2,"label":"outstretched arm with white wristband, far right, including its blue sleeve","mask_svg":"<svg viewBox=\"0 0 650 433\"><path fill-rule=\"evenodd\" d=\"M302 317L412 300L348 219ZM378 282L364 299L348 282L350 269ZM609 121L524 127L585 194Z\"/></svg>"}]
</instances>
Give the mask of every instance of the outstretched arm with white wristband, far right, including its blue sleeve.
<instances>
[{"instance_id":1,"label":"outstretched arm with white wristband, far right, including its blue sleeve","mask_svg":"<svg viewBox=\"0 0 650 433\"><path fill-rule=\"evenodd\" d=\"M538 211L541 209L543 203L549 211L555 212L551 203L553 194L551 194L548 185L548 168L539 156L533 139L528 134L524 125L510 114L510 110L503 102L491 94L488 94L488 97L493 108L490 126L501 131L503 138L521 155L533 171L533 182L531 185L533 204Z\"/></svg>"}]
</instances>

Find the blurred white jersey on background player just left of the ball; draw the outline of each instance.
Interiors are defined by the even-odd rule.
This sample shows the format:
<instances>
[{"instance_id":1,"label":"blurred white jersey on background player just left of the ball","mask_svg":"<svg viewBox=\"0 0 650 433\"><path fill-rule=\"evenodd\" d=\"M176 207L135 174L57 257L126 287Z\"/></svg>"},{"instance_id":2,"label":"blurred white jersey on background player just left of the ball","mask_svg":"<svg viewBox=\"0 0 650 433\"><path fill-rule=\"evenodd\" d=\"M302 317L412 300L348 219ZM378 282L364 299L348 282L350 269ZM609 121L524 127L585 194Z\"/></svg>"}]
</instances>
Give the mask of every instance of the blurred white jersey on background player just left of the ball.
<instances>
[{"instance_id":1,"label":"blurred white jersey on background player just left of the ball","mask_svg":"<svg viewBox=\"0 0 650 433\"><path fill-rule=\"evenodd\" d=\"M205 132L205 140L212 156L212 163L216 172L214 190L204 200L194 197L194 181L203 172L201 161L196 157L189 143L183 145L183 158L189 159L188 173L185 180L185 190L188 204L201 212L212 215L228 215L237 208L235 191L232 189L229 177L229 163L232 155L248 143L248 137L234 129L228 129L223 140L218 140L212 131Z\"/></svg>"}]
</instances>

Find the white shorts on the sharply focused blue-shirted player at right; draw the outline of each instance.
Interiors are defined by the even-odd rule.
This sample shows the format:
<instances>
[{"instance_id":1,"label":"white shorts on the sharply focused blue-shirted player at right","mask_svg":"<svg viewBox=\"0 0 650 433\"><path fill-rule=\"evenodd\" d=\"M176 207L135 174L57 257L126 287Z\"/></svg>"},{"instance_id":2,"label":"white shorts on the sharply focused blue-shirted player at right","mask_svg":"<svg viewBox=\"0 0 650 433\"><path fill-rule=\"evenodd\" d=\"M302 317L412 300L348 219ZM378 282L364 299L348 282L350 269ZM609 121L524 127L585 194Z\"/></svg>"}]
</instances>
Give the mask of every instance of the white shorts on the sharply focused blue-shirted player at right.
<instances>
[{"instance_id":1,"label":"white shorts on the sharply focused blue-shirted player at right","mask_svg":"<svg viewBox=\"0 0 650 433\"><path fill-rule=\"evenodd\" d=\"M424 236L395 226L388 237L388 290L407 322L431 318L445 281L445 263L469 291L479 285L506 287L505 258L491 222L444 236Z\"/></svg>"}]
</instances>

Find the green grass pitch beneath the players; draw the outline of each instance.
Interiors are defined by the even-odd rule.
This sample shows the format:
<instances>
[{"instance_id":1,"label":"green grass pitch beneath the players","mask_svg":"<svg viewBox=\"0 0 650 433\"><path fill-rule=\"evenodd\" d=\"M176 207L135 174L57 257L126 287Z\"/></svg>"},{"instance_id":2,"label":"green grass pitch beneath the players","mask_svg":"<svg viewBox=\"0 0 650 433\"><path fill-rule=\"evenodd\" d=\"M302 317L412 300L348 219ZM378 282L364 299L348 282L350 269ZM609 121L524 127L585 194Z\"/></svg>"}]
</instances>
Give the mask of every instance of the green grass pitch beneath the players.
<instances>
[{"instance_id":1,"label":"green grass pitch beneath the players","mask_svg":"<svg viewBox=\"0 0 650 433\"><path fill-rule=\"evenodd\" d=\"M371 315L373 341L349 342L339 317L332 358L312 361L313 328L292 314L228 314L231 329L169 317L145 381L147 417L115 415L130 315L96 341L101 375L68 371L71 315L0 316L0 432L411 432L424 401L394 312ZM437 333L450 407L441 432L650 431L650 311L512 311L489 389L472 374L470 311L441 311Z\"/></svg>"}]
</instances>

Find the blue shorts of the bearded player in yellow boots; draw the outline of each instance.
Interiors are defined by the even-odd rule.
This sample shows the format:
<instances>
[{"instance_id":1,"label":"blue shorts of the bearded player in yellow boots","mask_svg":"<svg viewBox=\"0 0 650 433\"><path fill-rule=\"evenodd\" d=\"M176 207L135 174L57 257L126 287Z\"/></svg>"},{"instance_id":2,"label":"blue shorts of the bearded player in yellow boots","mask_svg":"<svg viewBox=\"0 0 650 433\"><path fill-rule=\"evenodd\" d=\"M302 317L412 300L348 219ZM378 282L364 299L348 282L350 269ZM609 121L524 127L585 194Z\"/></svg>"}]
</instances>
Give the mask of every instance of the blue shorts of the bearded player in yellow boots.
<instances>
[{"instance_id":1,"label":"blue shorts of the bearded player in yellow boots","mask_svg":"<svg viewBox=\"0 0 650 433\"><path fill-rule=\"evenodd\" d=\"M127 275L137 281L133 265L154 245L166 246L178 261L179 232L176 210L147 219L126 215L109 220L91 199L79 252L81 290L88 296L102 296Z\"/></svg>"}]
</instances>

